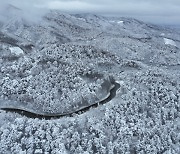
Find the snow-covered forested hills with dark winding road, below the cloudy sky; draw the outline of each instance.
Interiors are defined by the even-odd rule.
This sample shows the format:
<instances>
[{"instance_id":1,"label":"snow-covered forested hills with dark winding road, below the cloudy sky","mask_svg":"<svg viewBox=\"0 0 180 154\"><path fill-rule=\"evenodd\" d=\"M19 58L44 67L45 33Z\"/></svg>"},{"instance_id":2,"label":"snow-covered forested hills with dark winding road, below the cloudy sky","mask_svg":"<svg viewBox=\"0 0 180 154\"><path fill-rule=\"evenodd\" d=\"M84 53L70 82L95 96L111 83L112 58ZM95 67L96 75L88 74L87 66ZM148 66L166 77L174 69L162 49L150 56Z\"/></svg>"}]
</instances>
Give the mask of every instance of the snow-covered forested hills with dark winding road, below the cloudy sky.
<instances>
[{"instance_id":1,"label":"snow-covered forested hills with dark winding road, below the cloudy sky","mask_svg":"<svg viewBox=\"0 0 180 154\"><path fill-rule=\"evenodd\" d=\"M177 30L59 11L31 22L9 9L0 153L180 153Z\"/></svg>"}]
</instances>

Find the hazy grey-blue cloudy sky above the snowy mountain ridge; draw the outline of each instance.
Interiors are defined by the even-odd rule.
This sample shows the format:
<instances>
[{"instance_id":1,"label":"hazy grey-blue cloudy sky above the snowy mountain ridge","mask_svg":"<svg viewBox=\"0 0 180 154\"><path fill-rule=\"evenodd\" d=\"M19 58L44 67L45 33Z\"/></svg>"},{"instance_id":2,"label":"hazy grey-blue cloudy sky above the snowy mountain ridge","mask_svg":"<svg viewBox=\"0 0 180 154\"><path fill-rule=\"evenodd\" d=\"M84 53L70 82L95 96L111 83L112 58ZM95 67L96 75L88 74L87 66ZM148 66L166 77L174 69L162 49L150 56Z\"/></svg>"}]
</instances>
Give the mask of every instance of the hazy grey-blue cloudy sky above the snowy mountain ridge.
<instances>
[{"instance_id":1,"label":"hazy grey-blue cloudy sky above the snowy mountain ridge","mask_svg":"<svg viewBox=\"0 0 180 154\"><path fill-rule=\"evenodd\" d=\"M180 0L0 0L41 14L45 9L68 13L96 13L110 16L135 17L157 24L180 25Z\"/></svg>"}]
</instances>

